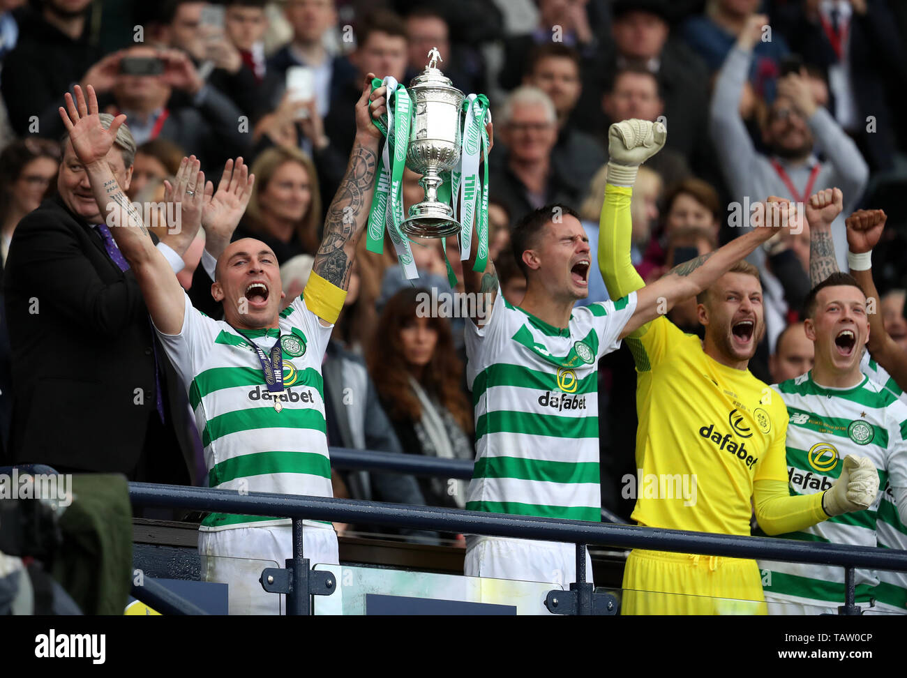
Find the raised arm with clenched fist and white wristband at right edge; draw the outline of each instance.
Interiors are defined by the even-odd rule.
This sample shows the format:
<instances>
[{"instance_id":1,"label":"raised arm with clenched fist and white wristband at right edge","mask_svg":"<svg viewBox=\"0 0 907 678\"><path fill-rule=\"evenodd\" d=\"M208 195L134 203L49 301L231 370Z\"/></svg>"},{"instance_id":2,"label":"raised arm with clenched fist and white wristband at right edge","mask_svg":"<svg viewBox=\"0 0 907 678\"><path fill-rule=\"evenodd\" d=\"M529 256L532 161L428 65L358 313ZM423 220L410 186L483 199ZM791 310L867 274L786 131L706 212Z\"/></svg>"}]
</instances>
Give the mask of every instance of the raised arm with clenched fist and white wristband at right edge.
<instances>
[{"instance_id":1,"label":"raised arm with clenched fist and white wristband at right edge","mask_svg":"<svg viewBox=\"0 0 907 678\"><path fill-rule=\"evenodd\" d=\"M892 379L904 389L907 386L907 352L885 332L882 309L879 307L879 292L873 282L873 268L870 257L873 247L879 242L885 228L885 213L881 209L859 209L846 219L848 259L851 275L856 279L867 299L875 300L875 313L869 316L869 343L866 348L873 360L892 375ZM854 257L853 255L856 255Z\"/></svg>"}]
</instances>

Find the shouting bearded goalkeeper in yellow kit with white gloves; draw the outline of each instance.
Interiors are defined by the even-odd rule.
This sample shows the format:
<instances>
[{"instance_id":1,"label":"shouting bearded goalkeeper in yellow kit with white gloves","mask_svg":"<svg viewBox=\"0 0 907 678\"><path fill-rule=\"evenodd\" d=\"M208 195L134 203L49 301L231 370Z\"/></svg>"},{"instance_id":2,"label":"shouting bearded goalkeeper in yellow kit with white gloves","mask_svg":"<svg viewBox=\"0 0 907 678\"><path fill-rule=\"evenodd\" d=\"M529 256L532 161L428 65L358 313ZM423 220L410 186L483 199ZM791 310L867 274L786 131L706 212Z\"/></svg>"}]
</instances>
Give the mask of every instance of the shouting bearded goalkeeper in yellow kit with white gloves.
<instances>
[{"instance_id":1,"label":"shouting bearded goalkeeper in yellow kit with white gloves","mask_svg":"<svg viewBox=\"0 0 907 678\"><path fill-rule=\"evenodd\" d=\"M610 128L611 163L627 155L624 124ZM647 289L630 263L628 179L632 173L610 177L601 212L599 262L611 297ZM758 218L795 218L793 205L769 200L775 201L761 205ZM749 535L755 506L766 533L780 534L872 503L874 492L863 483L874 472L863 469L850 478L844 474L827 492L789 496L785 405L747 369L765 332L756 267L739 262L697 302L704 340L684 334L664 315L627 339L638 373L637 464L642 477L658 485L656 491L648 482L639 489L632 518L651 528ZM690 487L695 479L695 502L658 491L670 490L674 479ZM751 559L634 549L623 587L625 615L766 612Z\"/></svg>"}]
</instances>

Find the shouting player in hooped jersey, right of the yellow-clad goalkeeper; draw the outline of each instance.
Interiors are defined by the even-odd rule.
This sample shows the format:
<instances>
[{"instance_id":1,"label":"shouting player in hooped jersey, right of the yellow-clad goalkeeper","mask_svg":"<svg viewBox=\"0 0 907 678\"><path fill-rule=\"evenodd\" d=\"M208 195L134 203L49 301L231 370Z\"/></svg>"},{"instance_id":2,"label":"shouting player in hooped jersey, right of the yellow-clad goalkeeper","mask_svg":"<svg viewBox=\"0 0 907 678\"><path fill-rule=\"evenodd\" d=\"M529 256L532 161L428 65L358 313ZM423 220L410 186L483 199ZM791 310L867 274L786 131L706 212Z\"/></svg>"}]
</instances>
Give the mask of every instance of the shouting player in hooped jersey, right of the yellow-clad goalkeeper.
<instances>
[{"instance_id":1,"label":"shouting player in hooped jersey, right of the yellow-clad goalkeeper","mask_svg":"<svg viewBox=\"0 0 907 678\"><path fill-rule=\"evenodd\" d=\"M812 222L810 222L812 223ZM901 425L907 406L860 371L869 335L866 296L852 276L833 273L806 298L806 336L815 344L813 369L775 385L790 417L786 458L790 493L814 496L834 480L865 466L907 487L907 443ZM834 493L832 494L834 497ZM868 498L867 498L868 499ZM834 515L780 537L853 546L876 545L876 516L882 495L856 513ZM840 514L841 512L838 511ZM834 615L844 604L844 568L760 561L770 614ZM879 583L873 572L856 570L856 602L869 605Z\"/></svg>"}]
</instances>

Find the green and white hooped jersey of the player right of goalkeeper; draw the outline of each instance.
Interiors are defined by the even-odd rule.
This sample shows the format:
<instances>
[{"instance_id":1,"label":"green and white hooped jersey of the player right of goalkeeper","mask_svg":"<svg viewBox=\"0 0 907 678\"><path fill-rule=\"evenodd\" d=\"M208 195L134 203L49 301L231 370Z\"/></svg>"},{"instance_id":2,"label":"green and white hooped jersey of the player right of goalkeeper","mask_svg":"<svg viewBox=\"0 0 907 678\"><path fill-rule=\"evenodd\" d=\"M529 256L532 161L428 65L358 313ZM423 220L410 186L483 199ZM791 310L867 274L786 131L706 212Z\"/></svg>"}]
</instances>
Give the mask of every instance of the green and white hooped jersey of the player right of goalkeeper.
<instances>
[{"instance_id":1,"label":"green and white hooped jersey of the player right of goalkeeper","mask_svg":"<svg viewBox=\"0 0 907 678\"><path fill-rule=\"evenodd\" d=\"M785 399L787 477L792 495L829 489L841 475L844 457L868 457L880 486L890 477L903 481L896 457L907 454L907 405L863 375L849 389L825 388L812 372L774 387ZM903 464L900 465L903 468ZM864 511L828 518L810 528L779 535L801 541L875 547L882 493ZM804 605L844 605L844 568L760 561L766 596ZM856 570L856 602L878 597L879 580L871 570Z\"/></svg>"}]
</instances>

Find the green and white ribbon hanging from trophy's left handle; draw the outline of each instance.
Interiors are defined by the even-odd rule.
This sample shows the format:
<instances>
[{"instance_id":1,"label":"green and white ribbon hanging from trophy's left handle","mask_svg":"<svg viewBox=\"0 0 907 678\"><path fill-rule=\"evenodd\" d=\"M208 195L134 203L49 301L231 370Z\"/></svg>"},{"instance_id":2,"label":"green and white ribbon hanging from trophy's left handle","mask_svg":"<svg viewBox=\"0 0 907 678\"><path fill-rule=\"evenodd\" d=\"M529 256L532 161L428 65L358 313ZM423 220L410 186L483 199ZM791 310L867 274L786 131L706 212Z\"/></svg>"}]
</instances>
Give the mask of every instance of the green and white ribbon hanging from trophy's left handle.
<instances>
[{"instance_id":1,"label":"green and white ribbon hanging from trophy's left handle","mask_svg":"<svg viewBox=\"0 0 907 678\"><path fill-rule=\"evenodd\" d=\"M406 165L406 150L409 146L409 133L413 121L413 102L406 88L396 82L395 78L386 77L384 81L372 82L373 88L384 84L387 88L387 124L375 121L375 126L385 132L385 147L382 150L382 165L378 168L375 185L375 197L372 199L372 210L368 216L366 249L375 254L384 251L384 232L394 243L397 260L404 270L407 279L419 276L413 261L409 241L400 228L403 221L403 172ZM399 142L398 142L399 140Z\"/></svg>"}]
</instances>

